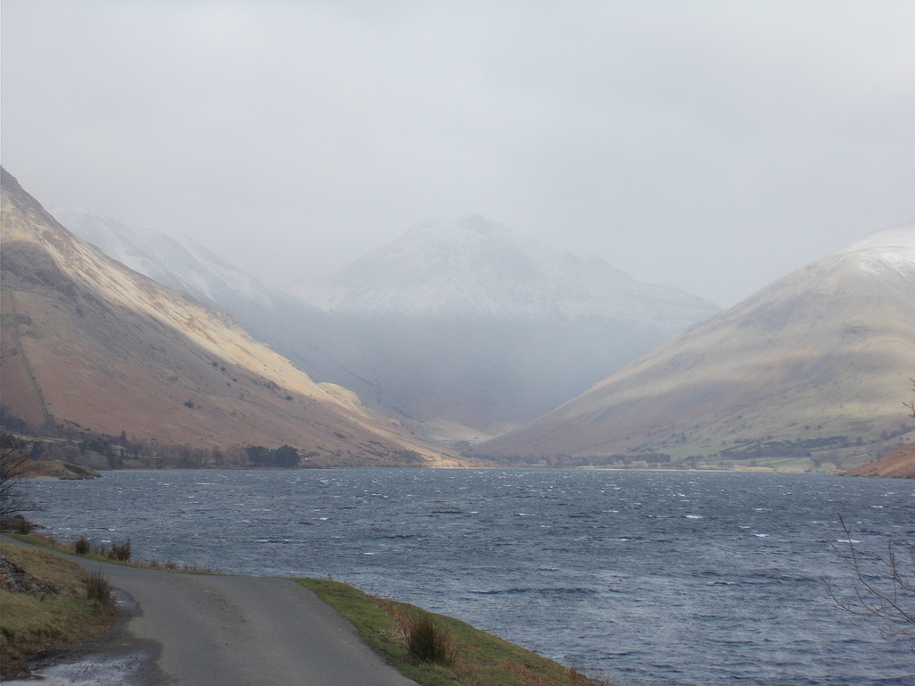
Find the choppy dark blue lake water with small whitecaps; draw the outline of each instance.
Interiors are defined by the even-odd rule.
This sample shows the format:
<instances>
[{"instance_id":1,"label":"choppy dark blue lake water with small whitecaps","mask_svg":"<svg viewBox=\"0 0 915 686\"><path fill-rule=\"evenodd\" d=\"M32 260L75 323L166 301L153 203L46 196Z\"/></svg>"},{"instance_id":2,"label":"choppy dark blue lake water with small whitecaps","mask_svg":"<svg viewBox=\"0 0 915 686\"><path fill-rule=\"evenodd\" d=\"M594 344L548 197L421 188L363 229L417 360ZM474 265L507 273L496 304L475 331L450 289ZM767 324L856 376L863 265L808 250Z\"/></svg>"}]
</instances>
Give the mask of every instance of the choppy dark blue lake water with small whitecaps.
<instances>
[{"instance_id":1,"label":"choppy dark blue lake water with small whitecaps","mask_svg":"<svg viewBox=\"0 0 915 686\"><path fill-rule=\"evenodd\" d=\"M843 539L915 544L915 482L582 470L109 472L37 481L61 539L227 573L327 576L458 616L619 686L915 683L853 625Z\"/></svg>"}]
</instances>

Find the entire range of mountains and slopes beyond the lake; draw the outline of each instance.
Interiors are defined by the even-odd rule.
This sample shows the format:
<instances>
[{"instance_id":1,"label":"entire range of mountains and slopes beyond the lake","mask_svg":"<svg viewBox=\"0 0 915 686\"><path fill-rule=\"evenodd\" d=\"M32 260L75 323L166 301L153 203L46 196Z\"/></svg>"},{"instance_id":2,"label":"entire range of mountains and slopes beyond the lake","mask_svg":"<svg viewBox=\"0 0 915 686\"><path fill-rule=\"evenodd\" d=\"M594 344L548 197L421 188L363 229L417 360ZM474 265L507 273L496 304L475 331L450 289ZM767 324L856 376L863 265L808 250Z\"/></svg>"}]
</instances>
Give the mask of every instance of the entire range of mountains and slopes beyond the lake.
<instances>
[{"instance_id":1,"label":"entire range of mountains and slopes beyond the lake","mask_svg":"<svg viewBox=\"0 0 915 686\"><path fill-rule=\"evenodd\" d=\"M55 209L81 241L3 187L3 402L36 425L292 444L316 466L826 471L915 428L915 225L722 312L479 215L276 290L195 241Z\"/></svg>"}]
</instances>

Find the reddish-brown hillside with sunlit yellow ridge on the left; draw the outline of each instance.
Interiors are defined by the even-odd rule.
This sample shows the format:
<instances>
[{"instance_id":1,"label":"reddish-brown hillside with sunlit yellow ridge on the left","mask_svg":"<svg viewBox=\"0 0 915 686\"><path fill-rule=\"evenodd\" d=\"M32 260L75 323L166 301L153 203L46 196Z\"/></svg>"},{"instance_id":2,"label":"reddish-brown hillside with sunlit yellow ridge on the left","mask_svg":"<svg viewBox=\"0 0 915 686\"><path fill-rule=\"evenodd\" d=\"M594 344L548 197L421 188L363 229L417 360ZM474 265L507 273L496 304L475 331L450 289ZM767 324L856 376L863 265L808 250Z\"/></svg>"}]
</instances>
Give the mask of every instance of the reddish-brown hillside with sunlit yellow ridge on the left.
<instances>
[{"instance_id":1,"label":"reddish-brown hillside with sunlit yellow ridge on the left","mask_svg":"<svg viewBox=\"0 0 915 686\"><path fill-rule=\"evenodd\" d=\"M312 464L455 464L223 312L114 262L2 179L5 413L159 445L294 445Z\"/></svg>"}]
</instances>

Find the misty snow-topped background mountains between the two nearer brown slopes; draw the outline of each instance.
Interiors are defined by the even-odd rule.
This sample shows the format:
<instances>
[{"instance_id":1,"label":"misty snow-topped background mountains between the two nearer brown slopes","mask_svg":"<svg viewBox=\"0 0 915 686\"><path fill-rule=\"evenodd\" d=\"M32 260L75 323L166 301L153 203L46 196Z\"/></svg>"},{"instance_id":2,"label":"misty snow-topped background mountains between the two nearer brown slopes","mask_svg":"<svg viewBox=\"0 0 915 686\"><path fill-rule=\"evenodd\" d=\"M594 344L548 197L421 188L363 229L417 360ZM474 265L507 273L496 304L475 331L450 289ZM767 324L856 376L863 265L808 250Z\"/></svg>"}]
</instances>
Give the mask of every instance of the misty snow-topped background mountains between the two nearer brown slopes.
<instances>
[{"instance_id":1,"label":"misty snow-topped background mountains between the two nearer brown slopes","mask_svg":"<svg viewBox=\"0 0 915 686\"><path fill-rule=\"evenodd\" d=\"M716 305L552 252L478 215L425 222L282 292L190 241L60 211L136 269L231 312L318 381L436 440L475 440L586 390Z\"/></svg>"}]
</instances>

